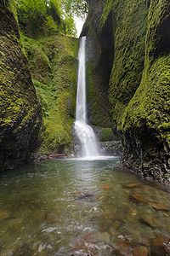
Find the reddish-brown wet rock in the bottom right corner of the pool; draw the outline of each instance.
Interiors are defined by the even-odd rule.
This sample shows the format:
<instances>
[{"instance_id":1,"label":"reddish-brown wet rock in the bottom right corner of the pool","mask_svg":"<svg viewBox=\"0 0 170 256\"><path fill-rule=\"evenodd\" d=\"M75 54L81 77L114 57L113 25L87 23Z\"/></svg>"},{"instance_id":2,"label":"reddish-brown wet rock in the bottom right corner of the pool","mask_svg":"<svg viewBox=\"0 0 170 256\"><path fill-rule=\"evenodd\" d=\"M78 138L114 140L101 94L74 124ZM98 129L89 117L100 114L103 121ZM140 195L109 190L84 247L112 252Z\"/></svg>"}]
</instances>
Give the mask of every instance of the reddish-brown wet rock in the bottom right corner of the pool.
<instances>
[{"instance_id":1,"label":"reddish-brown wet rock in the bottom right corner of the pool","mask_svg":"<svg viewBox=\"0 0 170 256\"><path fill-rule=\"evenodd\" d=\"M170 255L170 237L157 236L152 239L151 253L154 256L167 256Z\"/></svg>"}]
</instances>

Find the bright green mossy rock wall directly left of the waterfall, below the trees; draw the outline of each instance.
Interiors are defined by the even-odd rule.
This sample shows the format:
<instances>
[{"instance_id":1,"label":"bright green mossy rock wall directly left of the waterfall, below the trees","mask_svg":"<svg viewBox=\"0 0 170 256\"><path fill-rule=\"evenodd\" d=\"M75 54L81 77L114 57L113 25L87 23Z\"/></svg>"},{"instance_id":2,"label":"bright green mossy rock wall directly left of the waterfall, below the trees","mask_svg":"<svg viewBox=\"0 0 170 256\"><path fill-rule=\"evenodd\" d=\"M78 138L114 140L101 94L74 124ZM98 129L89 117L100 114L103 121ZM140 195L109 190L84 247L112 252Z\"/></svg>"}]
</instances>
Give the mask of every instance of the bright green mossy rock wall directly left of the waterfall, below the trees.
<instances>
[{"instance_id":1,"label":"bright green mossy rock wall directly left of the waterfall, below the trees","mask_svg":"<svg viewBox=\"0 0 170 256\"><path fill-rule=\"evenodd\" d=\"M40 152L71 154L76 108L78 39L62 33L22 42L42 105Z\"/></svg>"}]
</instances>

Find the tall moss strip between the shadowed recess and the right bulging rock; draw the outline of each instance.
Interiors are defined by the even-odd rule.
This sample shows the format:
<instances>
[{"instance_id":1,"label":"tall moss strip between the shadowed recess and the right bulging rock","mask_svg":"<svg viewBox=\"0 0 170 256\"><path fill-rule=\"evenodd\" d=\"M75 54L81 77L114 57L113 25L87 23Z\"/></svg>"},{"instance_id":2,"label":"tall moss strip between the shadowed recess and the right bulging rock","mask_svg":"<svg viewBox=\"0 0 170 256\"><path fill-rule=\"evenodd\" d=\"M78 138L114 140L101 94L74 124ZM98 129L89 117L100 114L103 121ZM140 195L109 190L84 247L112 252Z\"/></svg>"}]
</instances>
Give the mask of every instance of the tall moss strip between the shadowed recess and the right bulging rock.
<instances>
[{"instance_id":1,"label":"tall moss strip between the shadowed recess and the right bulging rock","mask_svg":"<svg viewBox=\"0 0 170 256\"><path fill-rule=\"evenodd\" d=\"M121 131L122 114L139 87L144 69L147 9L144 1L120 1L113 7L114 61L109 98L112 125Z\"/></svg>"}]
</instances>

